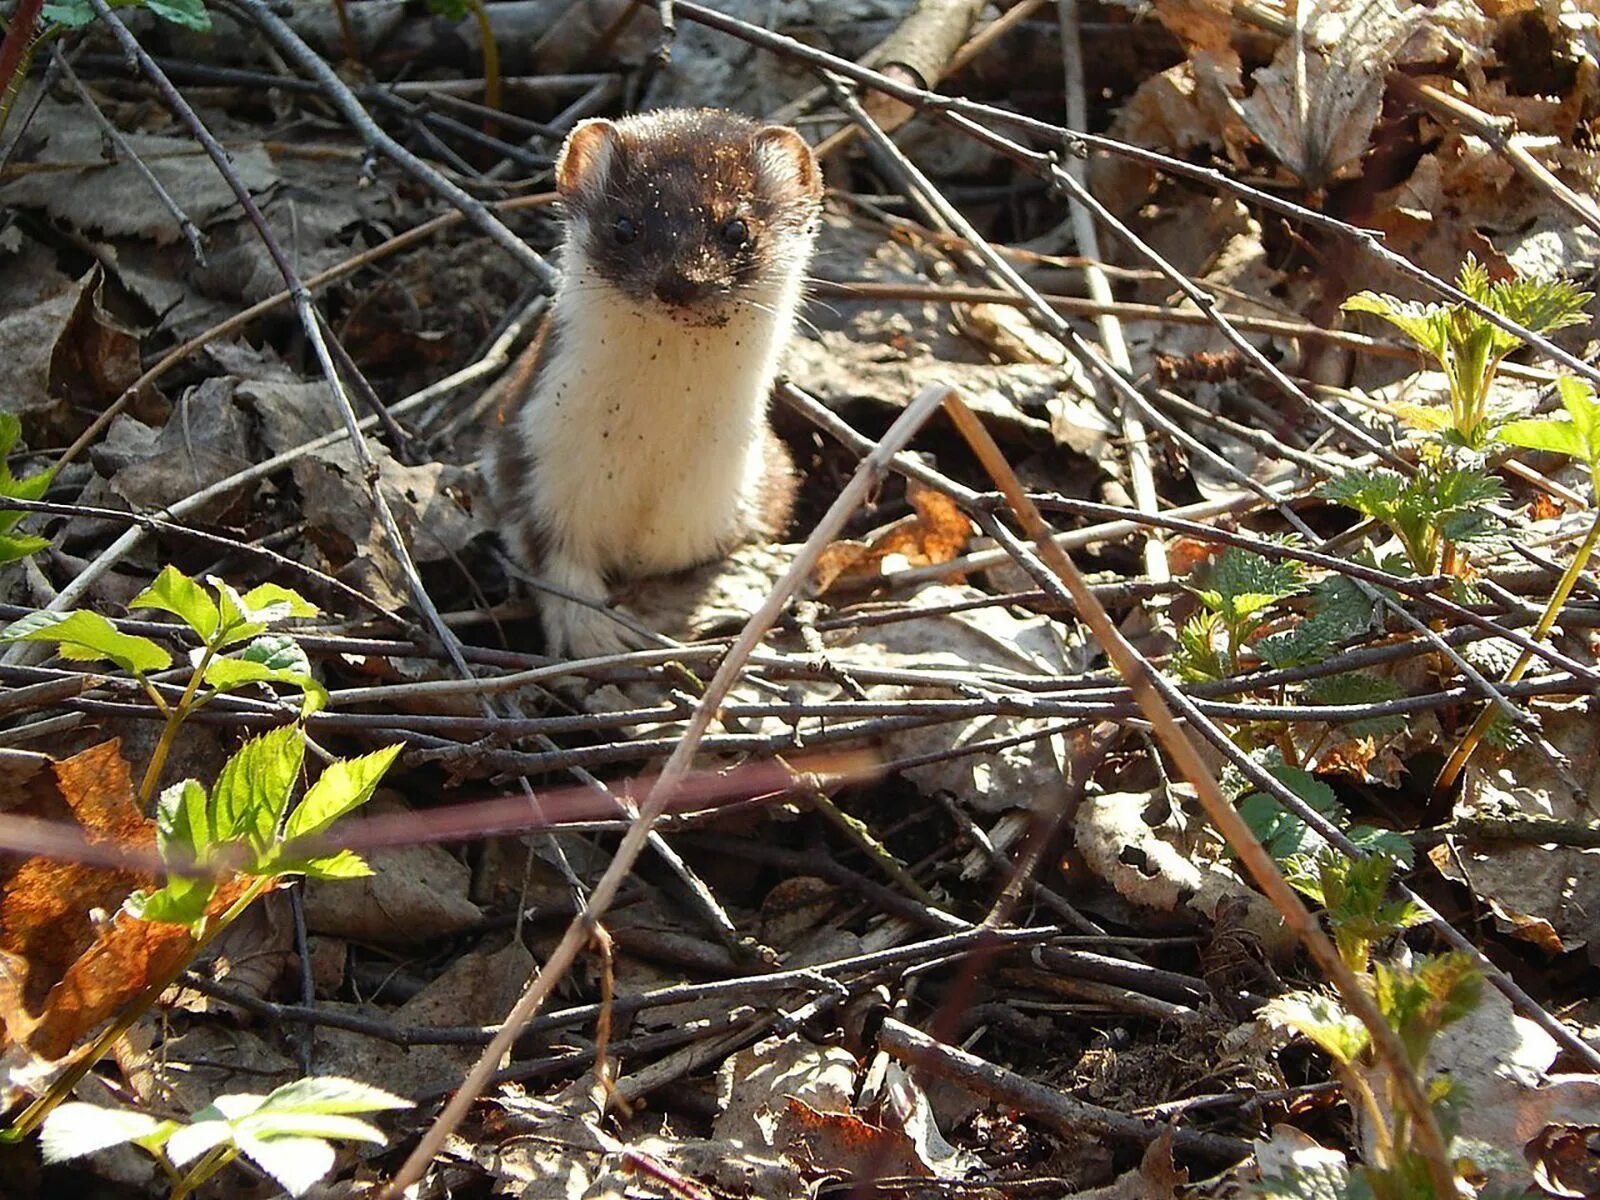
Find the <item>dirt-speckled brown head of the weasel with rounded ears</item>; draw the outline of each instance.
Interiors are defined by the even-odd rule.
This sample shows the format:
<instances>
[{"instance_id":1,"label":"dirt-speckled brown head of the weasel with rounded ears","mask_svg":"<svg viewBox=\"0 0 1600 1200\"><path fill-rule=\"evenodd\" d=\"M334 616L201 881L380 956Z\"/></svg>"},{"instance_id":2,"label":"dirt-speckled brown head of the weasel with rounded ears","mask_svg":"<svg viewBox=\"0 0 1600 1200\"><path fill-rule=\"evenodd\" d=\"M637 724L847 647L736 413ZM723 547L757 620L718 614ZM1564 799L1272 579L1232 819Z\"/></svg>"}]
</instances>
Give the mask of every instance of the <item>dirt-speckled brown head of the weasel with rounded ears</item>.
<instances>
[{"instance_id":1,"label":"dirt-speckled brown head of the weasel with rounded ears","mask_svg":"<svg viewBox=\"0 0 1600 1200\"><path fill-rule=\"evenodd\" d=\"M608 286L685 325L792 298L822 173L790 128L715 109L587 120L555 163L574 286Z\"/></svg>"}]
</instances>

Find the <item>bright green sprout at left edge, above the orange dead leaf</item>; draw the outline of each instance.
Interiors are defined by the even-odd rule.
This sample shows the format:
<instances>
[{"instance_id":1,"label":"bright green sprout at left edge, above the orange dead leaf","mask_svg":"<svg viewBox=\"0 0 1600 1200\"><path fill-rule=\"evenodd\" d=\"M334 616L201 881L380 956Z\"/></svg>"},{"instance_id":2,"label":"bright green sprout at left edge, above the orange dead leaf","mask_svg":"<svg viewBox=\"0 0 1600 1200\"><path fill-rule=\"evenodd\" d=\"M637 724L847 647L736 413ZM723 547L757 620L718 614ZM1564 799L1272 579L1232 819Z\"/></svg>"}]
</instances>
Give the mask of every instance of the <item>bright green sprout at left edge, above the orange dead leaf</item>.
<instances>
[{"instance_id":1,"label":"bright green sprout at left edge, above the orange dead leaf","mask_svg":"<svg viewBox=\"0 0 1600 1200\"><path fill-rule=\"evenodd\" d=\"M176 701L168 701L150 680L155 672L173 666L173 656L147 637L123 634L99 613L30 613L0 634L0 642L50 643L61 658L75 662L112 662L139 682L144 694L165 717L162 736L139 784L139 803L146 808L160 784L178 730L190 714L214 698L251 683L282 683L299 690L302 714L322 709L328 699L328 693L312 677L310 661L299 643L288 634L267 632L280 621L317 616L314 603L278 584L261 584L240 595L222 579L213 578L208 582L214 598L168 565L128 603L130 610L171 613L200 638L189 680Z\"/></svg>"}]
</instances>

